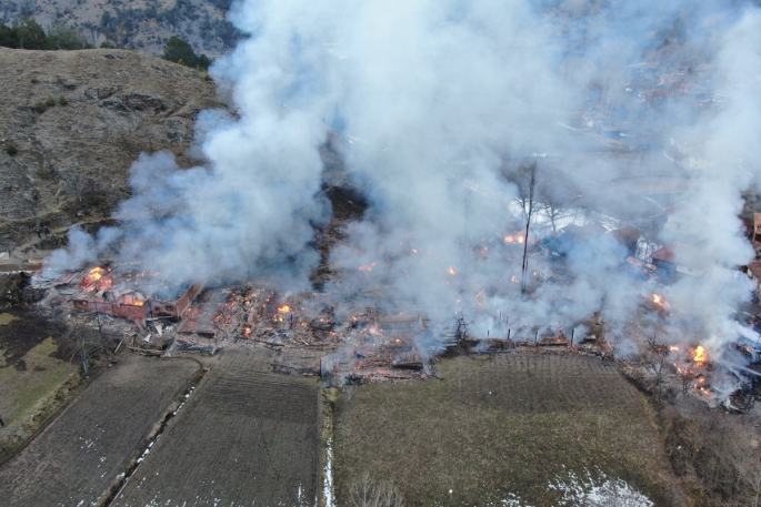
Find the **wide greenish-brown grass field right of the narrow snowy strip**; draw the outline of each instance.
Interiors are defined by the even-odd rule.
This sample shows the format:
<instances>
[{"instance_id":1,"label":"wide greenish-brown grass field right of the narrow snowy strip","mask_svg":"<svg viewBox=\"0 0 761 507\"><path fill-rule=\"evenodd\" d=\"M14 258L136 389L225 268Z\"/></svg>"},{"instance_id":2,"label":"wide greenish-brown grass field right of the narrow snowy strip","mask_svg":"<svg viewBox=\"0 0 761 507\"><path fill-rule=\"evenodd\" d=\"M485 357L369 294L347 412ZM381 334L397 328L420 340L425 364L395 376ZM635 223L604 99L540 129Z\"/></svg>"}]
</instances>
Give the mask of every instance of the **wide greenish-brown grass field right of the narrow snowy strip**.
<instances>
[{"instance_id":1,"label":"wide greenish-brown grass field right of the narrow snowy strip","mask_svg":"<svg viewBox=\"0 0 761 507\"><path fill-rule=\"evenodd\" d=\"M668 460L644 397L598 358L508 354L444 359L442 381L344 393L336 488L369 473L407 505L490 505L517 494L552 505L550 480L600 469L672 503ZM451 489L451 493L450 493Z\"/></svg>"}]
</instances>

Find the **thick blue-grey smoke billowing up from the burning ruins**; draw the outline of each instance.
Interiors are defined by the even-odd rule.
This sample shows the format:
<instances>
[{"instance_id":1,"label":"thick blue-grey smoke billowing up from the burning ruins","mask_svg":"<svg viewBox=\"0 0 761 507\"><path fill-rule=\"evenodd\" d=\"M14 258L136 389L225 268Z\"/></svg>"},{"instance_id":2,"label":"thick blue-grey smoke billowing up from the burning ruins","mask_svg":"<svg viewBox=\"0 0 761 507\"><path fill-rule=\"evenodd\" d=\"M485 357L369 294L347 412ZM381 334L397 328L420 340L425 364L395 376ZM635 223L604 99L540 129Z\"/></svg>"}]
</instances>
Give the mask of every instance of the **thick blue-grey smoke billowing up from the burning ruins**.
<instances>
[{"instance_id":1,"label":"thick blue-grey smoke billowing up from the burning ruins","mask_svg":"<svg viewBox=\"0 0 761 507\"><path fill-rule=\"evenodd\" d=\"M718 352L740 332L730 314L752 285L732 270L753 258L738 215L741 192L759 182L758 9L708 1L250 0L233 6L231 19L252 37L212 68L234 83L237 116L201 118L196 150L206 164L180 170L170 153L141 155L132 166L134 196L114 215L123 225L96 239L73 232L69 250L53 254L53 268L113 251L171 278L234 273L308 287L319 263L312 224L330 216L330 204L317 197L319 150L336 132L370 204L331 255L346 270L326 287L339 305L372 302L368 291L380 290L397 311L422 308L433 318L462 312L485 335L499 312L548 326L573 325L601 308L625 321L637 294L665 292L689 313L689 323L672 321L680 339L708 341ZM700 72L709 104L635 107L627 87L630 65L640 62L659 73ZM709 108L717 94L728 99ZM599 142L572 126L581 111L614 118L632 139L687 140L693 156L711 163L677 170L660 148L599 153ZM511 282L521 276L522 249L503 237L520 232L517 200L531 163L544 197L530 241L571 222L637 224L653 243L683 245L678 260L705 276L669 287L634 281L611 261L625 254L600 241L569 255L572 285L547 281L549 261L532 258L535 286L522 298ZM673 173L683 186L669 202L614 184ZM551 201L563 202L558 216ZM669 220L679 226L657 235L647 223L672 203Z\"/></svg>"}]
</instances>

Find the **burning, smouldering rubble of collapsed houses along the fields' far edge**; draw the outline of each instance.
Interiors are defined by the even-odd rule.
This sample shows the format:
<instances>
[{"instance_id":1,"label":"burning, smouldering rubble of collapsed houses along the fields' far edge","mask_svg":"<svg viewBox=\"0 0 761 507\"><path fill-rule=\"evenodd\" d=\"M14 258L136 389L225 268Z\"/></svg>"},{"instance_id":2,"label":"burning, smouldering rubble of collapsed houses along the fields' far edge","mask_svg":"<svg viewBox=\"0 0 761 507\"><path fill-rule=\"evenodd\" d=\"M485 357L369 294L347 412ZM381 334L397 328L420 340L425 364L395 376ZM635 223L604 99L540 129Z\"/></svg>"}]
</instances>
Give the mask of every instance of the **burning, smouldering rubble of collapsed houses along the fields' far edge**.
<instances>
[{"instance_id":1,"label":"burning, smouldering rubble of collapsed houses along the fields' far edge","mask_svg":"<svg viewBox=\"0 0 761 507\"><path fill-rule=\"evenodd\" d=\"M668 264L675 264L673 254L662 255L669 249L655 252L652 263L638 258L641 236L635 230L571 224L555 234L531 234L528 242L525 237L525 230L513 221L491 240L471 241L464 250L474 263L520 267L524 258L530 266L524 273L501 272L491 285L475 288L467 270L461 273L460 267L449 265L440 272L442 284L468 301L462 307L458 302L453 316L448 318L431 318L424 307L405 307L385 280L376 277L378 272L388 273L394 267L392 260L377 254L354 266L333 263L332 280L339 283L320 292L283 293L264 282L219 278L208 284L170 284L159 273L142 272L131 264L70 272L47 284L69 296L78 312L133 322L146 336L133 349L150 347L148 341L157 334L169 343L169 353L267 347L281 352L282 361L273 364L277 371L321 375L339 385L427 378L433 373L431 357L442 353L554 351L615 358L615 346L608 343L610 333L585 321L547 324L520 313L509 318L507 312L494 312L492 323L485 326L468 320L474 312L485 313L482 304L493 295L494 287L508 287L512 297L558 308L562 315L563 308L573 304L577 281L589 276L569 266L594 266L598 273L599 266L604 266L611 275L640 281L645 292L632 293L632 302L660 318L669 317L671 304L661 294L664 291L653 284L661 280L661 272L681 271ZM410 235L402 243L408 255L423 255ZM354 281L359 281L361 291L337 292L341 282L353 287ZM523 294L518 292L519 285ZM374 303L367 304L370 301ZM682 369L689 364L700 369L691 392L711 403L725 399L721 389L711 387L714 373L710 362L688 363L675 362Z\"/></svg>"}]
</instances>

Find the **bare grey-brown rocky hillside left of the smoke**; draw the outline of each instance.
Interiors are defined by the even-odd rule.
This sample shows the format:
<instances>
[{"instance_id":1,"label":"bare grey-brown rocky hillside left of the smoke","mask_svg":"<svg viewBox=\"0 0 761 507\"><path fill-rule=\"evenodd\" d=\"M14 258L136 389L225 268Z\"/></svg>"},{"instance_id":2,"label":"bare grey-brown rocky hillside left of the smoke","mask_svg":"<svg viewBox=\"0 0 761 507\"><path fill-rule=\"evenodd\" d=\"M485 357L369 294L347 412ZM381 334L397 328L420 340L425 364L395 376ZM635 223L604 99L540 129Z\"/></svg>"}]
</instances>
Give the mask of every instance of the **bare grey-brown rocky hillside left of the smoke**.
<instances>
[{"instance_id":1,"label":"bare grey-brown rocky hillside left of the smoke","mask_svg":"<svg viewBox=\"0 0 761 507\"><path fill-rule=\"evenodd\" d=\"M196 118L224 107L208 75L132 51L0 48L0 254L17 258L106 223L140 152L190 166Z\"/></svg>"}]
</instances>

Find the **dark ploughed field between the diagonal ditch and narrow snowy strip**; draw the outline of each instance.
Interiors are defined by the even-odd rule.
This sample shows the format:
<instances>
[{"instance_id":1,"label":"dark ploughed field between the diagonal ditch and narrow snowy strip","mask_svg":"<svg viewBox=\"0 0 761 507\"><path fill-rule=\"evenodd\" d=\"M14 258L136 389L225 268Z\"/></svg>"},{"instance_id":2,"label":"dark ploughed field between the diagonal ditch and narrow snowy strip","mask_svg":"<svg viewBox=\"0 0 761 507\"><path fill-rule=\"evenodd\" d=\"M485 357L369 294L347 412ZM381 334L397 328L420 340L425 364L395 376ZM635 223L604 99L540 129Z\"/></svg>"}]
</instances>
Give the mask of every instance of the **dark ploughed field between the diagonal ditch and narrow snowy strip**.
<instances>
[{"instance_id":1,"label":"dark ploughed field between the diagonal ditch and narrow snowy strip","mask_svg":"<svg viewBox=\"0 0 761 507\"><path fill-rule=\"evenodd\" d=\"M271 369L264 354L226 352L113 507L314 505L317 383Z\"/></svg>"}]
</instances>

